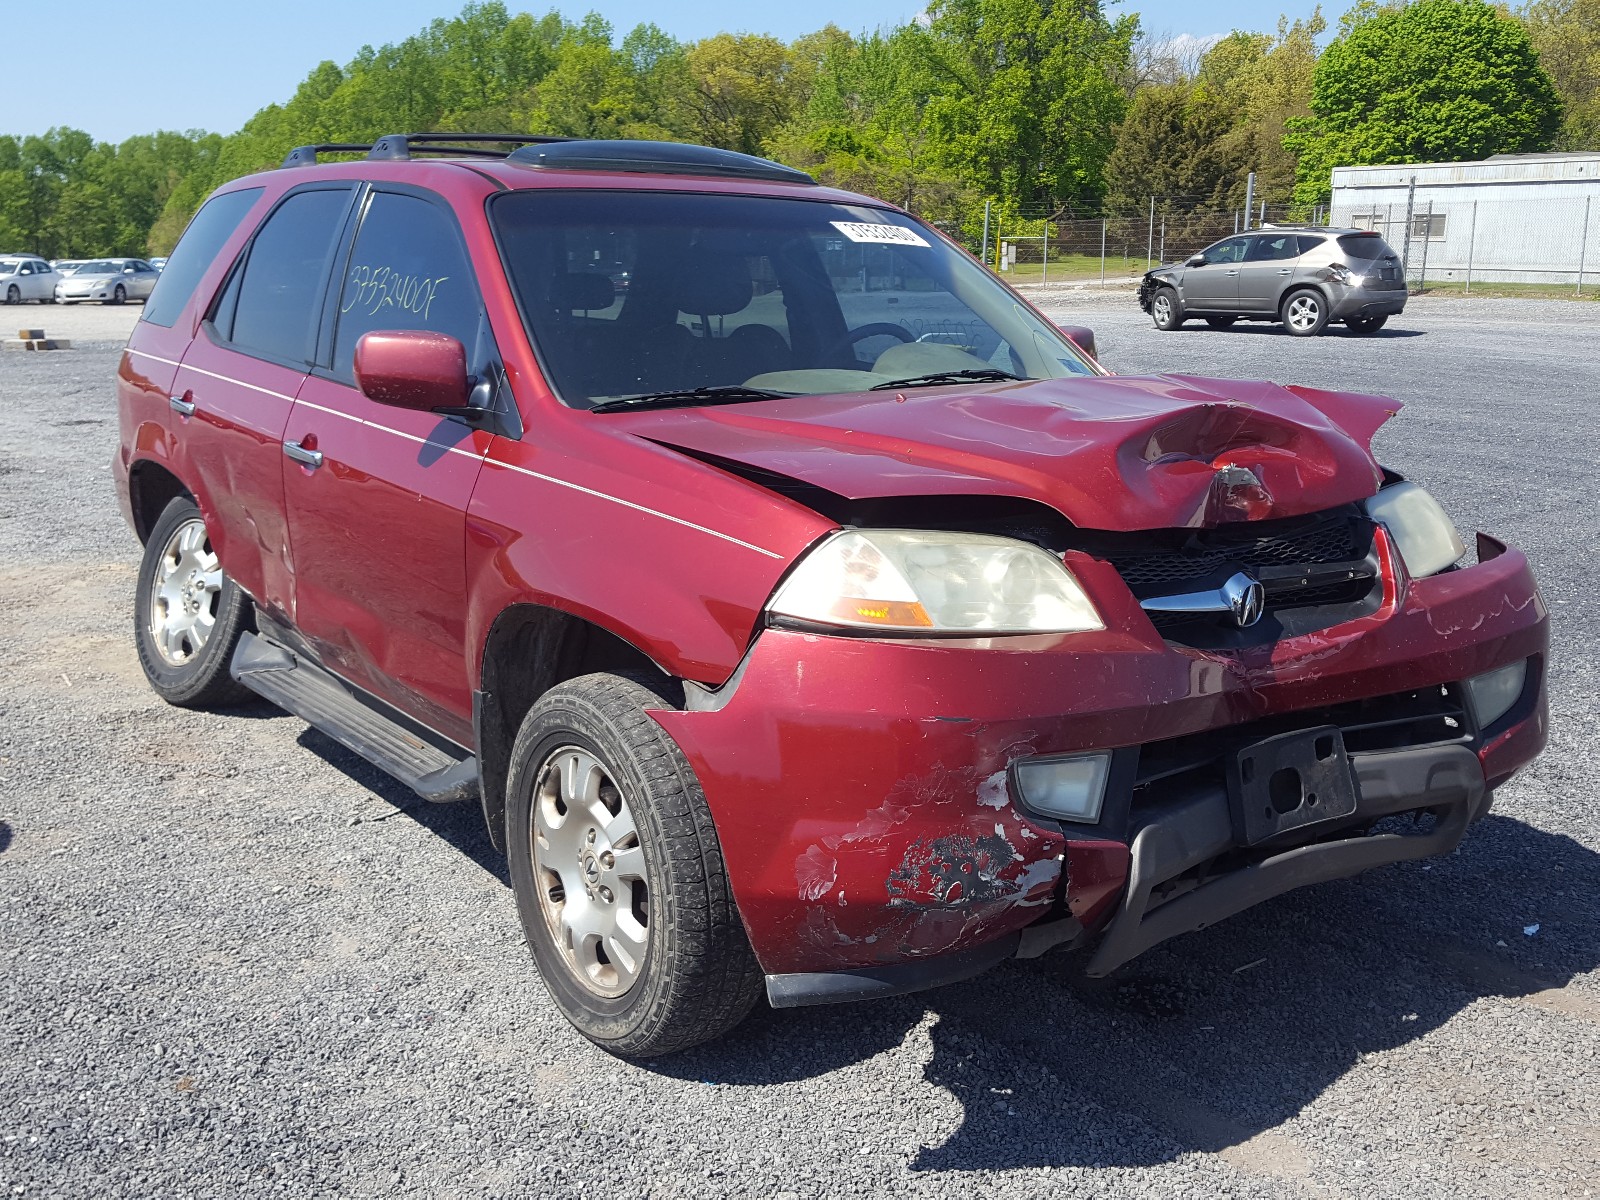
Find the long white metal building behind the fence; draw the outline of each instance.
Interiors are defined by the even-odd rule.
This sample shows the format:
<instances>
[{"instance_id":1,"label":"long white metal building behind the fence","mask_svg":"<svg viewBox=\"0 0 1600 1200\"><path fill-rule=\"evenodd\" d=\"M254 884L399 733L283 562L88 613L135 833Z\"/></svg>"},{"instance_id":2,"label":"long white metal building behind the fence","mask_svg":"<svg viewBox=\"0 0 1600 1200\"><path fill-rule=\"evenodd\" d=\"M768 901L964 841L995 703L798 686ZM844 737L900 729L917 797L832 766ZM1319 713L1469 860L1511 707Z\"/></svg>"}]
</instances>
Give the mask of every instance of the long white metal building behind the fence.
<instances>
[{"instance_id":1,"label":"long white metal building behind the fence","mask_svg":"<svg viewBox=\"0 0 1600 1200\"><path fill-rule=\"evenodd\" d=\"M1600 152L1338 166L1330 218L1381 232L1413 278L1600 283Z\"/></svg>"}]
</instances>

